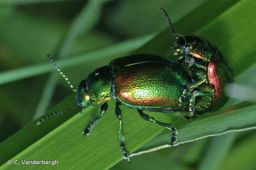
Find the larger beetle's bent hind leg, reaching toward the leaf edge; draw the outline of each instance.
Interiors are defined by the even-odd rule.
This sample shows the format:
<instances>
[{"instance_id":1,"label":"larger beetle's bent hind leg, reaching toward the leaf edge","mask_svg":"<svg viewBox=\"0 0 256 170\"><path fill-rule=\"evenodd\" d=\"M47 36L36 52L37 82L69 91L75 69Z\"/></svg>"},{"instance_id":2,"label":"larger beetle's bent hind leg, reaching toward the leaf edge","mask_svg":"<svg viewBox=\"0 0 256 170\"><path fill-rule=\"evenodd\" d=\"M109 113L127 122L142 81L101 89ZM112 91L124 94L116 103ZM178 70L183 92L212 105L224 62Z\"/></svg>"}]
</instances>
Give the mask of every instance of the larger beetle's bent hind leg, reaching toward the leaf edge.
<instances>
[{"instance_id":1,"label":"larger beetle's bent hind leg, reaching toward the leaf edge","mask_svg":"<svg viewBox=\"0 0 256 170\"><path fill-rule=\"evenodd\" d=\"M173 124L170 124L170 123L163 123L163 122L160 122L158 120L156 120L155 118L151 117L151 116L148 116L146 114L143 113L142 110L139 110L137 109L137 111L139 112L140 116L142 117L142 119L144 120L147 120L147 121L150 121L150 122L154 122L154 123L157 123L161 126L165 126L166 128L170 129L172 131L172 137L171 137L171 147L173 147L173 143L175 143L177 141L177 137L176 137L176 134L178 133L177 129L174 127Z\"/></svg>"}]
</instances>

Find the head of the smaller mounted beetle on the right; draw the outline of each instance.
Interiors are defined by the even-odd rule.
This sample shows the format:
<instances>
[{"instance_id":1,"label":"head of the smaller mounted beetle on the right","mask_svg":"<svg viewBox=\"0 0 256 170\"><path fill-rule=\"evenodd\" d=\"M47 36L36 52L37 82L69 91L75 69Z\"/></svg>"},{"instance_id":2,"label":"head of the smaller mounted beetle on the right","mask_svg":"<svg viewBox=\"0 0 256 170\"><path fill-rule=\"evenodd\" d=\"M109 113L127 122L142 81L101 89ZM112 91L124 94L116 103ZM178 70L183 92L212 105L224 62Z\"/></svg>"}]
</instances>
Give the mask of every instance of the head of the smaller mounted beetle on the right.
<instances>
[{"instance_id":1,"label":"head of the smaller mounted beetle on the right","mask_svg":"<svg viewBox=\"0 0 256 170\"><path fill-rule=\"evenodd\" d=\"M175 51L173 55L189 54L196 42L194 36L192 35L184 36L180 34L176 34L176 35L179 35L181 37L178 38L177 42L171 46L171 48L173 48Z\"/></svg>"}]
</instances>

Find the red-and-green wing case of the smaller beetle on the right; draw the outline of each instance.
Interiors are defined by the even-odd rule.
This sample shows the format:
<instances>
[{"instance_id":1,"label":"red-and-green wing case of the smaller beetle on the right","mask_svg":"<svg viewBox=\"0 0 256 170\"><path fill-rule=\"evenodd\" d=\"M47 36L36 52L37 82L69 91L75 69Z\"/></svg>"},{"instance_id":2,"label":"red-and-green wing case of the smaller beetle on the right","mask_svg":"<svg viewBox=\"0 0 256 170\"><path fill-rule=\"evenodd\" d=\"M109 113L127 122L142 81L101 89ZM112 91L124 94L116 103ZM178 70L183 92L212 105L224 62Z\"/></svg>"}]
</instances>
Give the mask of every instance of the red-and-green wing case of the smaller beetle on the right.
<instances>
[{"instance_id":1,"label":"red-and-green wing case of the smaller beetle on the right","mask_svg":"<svg viewBox=\"0 0 256 170\"><path fill-rule=\"evenodd\" d=\"M225 95L224 88L228 83L234 82L230 63L217 47L215 54L209 62L207 74L210 85L215 89L212 106L212 111L214 111L227 103L229 98Z\"/></svg>"}]
</instances>

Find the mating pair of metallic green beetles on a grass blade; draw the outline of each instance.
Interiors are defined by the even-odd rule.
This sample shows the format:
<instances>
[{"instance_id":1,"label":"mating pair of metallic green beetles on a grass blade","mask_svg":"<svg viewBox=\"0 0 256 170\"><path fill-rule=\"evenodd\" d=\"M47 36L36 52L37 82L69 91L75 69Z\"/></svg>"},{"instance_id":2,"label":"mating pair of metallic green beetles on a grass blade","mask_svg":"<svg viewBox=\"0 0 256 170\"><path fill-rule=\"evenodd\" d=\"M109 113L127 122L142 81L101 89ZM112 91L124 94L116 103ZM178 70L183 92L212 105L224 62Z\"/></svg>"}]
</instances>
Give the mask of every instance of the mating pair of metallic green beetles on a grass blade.
<instances>
[{"instance_id":1,"label":"mating pair of metallic green beetles on a grass blade","mask_svg":"<svg viewBox=\"0 0 256 170\"><path fill-rule=\"evenodd\" d=\"M143 119L169 128L171 146L176 142L177 130L174 125L155 120L144 114L143 110L162 113L188 111L190 115L184 117L193 119L197 114L221 108L228 100L223 92L224 86L234 81L228 60L208 40L194 35L184 36L175 33L167 13L162 8L160 11L166 16L173 36L177 38L177 42L171 46L175 51L174 55L185 54L185 56L177 61L153 54L116 58L109 65L91 72L75 90L48 55L58 72L72 90L76 91L77 103L68 109L42 118L37 124L78 105L82 107L81 113L89 105L101 105L100 114L91 120L83 132L86 137L95 122L106 112L107 102L113 98L116 100L115 114L119 122L120 149L124 158L130 163L129 153L124 144L123 117L119 105L125 104L137 109ZM184 60L189 63L189 75L180 66Z\"/></svg>"}]
</instances>

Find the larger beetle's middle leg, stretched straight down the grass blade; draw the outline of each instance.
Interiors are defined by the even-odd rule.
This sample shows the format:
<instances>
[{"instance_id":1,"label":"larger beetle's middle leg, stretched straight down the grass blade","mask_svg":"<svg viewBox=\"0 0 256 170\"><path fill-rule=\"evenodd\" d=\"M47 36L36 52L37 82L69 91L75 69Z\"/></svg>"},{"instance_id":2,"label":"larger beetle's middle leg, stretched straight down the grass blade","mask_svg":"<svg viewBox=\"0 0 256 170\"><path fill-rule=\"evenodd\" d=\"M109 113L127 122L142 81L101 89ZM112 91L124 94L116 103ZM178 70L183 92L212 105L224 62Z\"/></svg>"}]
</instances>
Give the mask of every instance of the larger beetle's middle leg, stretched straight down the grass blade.
<instances>
[{"instance_id":1,"label":"larger beetle's middle leg, stretched straight down the grass blade","mask_svg":"<svg viewBox=\"0 0 256 170\"><path fill-rule=\"evenodd\" d=\"M122 103L117 101L116 102L116 106L115 106L115 114L117 119L119 120L119 142L120 142L120 150L122 150L124 158L128 159L128 163L131 163L131 160L129 158L129 153L126 151L125 149L125 139L124 139L124 135L123 135L123 126L122 126L122 113L121 113L121 109L119 108L119 105L121 105Z\"/></svg>"}]
</instances>

